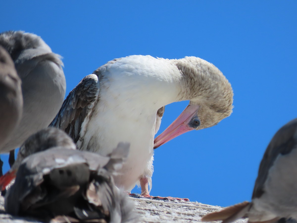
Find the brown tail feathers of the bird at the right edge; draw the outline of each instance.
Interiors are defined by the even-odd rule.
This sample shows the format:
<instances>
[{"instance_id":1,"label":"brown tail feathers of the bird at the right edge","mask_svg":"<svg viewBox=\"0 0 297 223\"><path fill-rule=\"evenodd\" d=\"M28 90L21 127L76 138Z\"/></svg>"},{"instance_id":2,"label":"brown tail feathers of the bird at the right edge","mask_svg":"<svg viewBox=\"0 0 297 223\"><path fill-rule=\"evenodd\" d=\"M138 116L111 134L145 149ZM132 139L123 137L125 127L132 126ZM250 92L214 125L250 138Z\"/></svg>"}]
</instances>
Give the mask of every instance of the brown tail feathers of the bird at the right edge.
<instances>
[{"instance_id":1,"label":"brown tail feathers of the bird at the right edge","mask_svg":"<svg viewBox=\"0 0 297 223\"><path fill-rule=\"evenodd\" d=\"M247 217L247 213L250 208L250 202L244 201L242 203L224 208L221 211L216 211L209 213L201 219L203 222L219 221L222 220L222 223L234 222L237 219Z\"/></svg>"}]
</instances>

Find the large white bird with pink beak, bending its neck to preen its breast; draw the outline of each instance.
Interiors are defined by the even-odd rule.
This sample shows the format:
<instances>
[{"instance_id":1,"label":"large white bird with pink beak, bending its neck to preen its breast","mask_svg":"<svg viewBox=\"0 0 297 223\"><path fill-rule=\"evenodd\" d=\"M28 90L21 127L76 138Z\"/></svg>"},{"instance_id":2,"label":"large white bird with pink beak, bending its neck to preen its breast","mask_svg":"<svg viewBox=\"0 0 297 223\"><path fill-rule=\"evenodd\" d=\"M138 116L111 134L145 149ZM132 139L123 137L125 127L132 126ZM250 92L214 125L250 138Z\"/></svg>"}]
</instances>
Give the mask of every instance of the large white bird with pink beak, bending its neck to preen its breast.
<instances>
[{"instance_id":1,"label":"large white bird with pink beak, bending its neck to preen its breast","mask_svg":"<svg viewBox=\"0 0 297 223\"><path fill-rule=\"evenodd\" d=\"M154 143L162 107L182 100L190 100L189 105ZM78 149L101 155L121 141L129 142L116 185L130 191L140 183L142 195L149 196L153 147L186 131L216 125L231 114L232 103L230 83L203 59L134 55L114 59L83 78L51 126L66 131Z\"/></svg>"}]
</instances>

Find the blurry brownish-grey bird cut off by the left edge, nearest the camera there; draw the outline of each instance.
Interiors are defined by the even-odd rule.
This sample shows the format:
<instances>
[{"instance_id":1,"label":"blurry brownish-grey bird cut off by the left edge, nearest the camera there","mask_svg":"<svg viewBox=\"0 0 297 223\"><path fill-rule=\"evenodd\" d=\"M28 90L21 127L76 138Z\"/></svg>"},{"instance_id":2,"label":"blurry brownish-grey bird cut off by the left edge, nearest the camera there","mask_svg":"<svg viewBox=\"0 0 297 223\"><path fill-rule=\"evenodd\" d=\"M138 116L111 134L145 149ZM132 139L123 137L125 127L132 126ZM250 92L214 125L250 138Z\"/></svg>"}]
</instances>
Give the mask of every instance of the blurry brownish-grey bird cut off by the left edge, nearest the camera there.
<instances>
[{"instance_id":1,"label":"blurry brownish-grey bird cut off by the left edge, nearest the camera there","mask_svg":"<svg viewBox=\"0 0 297 223\"><path fill-rule=\"evenodd\" d=\"M19 123L22 111L21 80L10 55L0 46L0 148Z\"/></svg>"}]
</instances>

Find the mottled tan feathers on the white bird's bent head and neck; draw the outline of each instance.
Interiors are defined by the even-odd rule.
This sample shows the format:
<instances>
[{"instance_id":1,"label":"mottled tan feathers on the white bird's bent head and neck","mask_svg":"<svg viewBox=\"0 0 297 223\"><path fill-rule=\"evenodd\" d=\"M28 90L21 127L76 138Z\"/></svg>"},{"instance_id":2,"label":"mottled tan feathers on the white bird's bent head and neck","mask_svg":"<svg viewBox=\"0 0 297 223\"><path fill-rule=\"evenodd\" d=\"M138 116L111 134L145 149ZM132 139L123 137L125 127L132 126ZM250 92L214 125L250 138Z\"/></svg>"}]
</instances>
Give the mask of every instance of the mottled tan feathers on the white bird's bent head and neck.
<instances>
[{"instance_id":1,"label":"mottled tan feathers on the white bird's bent head and neck","mask_svg":"<svg viewBox=\"0 0 297 223\"><path fill-rule=\"evenodd\" d=\"M200 128L207 128L230 116L233 109L233 90L222 72L213 64L193 56L172 60L180 70L183 91L180 100L201 105ZM199 77L199 78L198 78Z\"/></svg>"}]
</instances>

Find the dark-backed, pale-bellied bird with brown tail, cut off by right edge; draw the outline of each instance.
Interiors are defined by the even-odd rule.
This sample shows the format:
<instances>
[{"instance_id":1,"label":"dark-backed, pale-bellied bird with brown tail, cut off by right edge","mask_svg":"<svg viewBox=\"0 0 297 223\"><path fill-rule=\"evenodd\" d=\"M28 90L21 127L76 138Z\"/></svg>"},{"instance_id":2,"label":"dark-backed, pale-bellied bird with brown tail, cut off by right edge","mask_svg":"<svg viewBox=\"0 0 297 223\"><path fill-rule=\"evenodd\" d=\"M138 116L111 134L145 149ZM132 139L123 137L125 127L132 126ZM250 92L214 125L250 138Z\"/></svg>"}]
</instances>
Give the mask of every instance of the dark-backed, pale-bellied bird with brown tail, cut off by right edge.
<instances>
[{"instance_id":1,"label":"dark-backed, pale-bellied bird with brown tail, cut off by right edge","mask_svg":"<svg viewBox=\"0 0 297 223\"><path fill-rule=\"evenodd\" d=\"M297 119L284 125L271 139L260 163L251 202L242 202L219 212L209 213L202 221L273 223L297 220Z\"/></svg>"}]
</instances>

